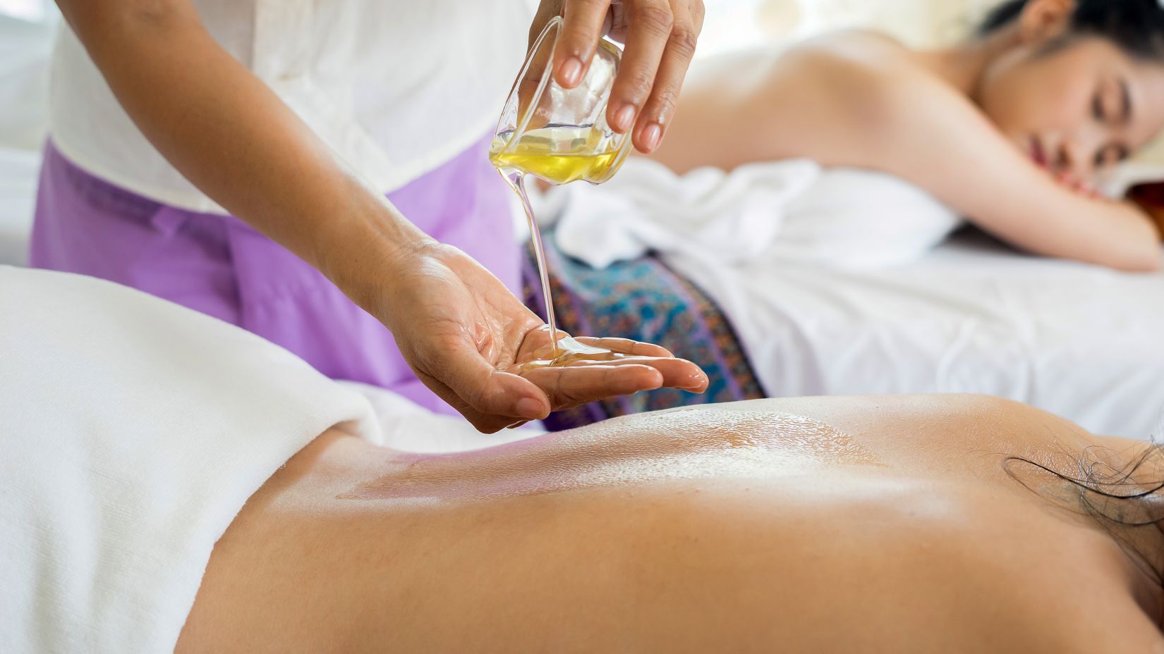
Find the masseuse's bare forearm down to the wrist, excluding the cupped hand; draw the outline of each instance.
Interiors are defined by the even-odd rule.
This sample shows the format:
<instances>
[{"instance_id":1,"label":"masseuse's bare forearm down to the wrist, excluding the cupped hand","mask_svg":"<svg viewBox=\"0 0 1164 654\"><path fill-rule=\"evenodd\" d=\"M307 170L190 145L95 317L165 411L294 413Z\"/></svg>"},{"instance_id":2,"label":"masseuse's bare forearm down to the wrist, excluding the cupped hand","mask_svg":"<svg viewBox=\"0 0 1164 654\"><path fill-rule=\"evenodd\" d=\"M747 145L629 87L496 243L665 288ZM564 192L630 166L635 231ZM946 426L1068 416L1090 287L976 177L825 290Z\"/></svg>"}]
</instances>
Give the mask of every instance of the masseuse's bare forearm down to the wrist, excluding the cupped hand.
<instances>
[{"instance_id":1,"label":"masseuse's bare forearm down to the wrist, excluding the cupped hand","mask_svg":"<svg viewBox=\"0 0 1164 654\"><path fill-rule=\"evenodd\" d=\"M158 151L232 214L341 287L356 270L383 270L427 240L222 50L187 0L58 5Z\"/></svg>"}]
</instances>

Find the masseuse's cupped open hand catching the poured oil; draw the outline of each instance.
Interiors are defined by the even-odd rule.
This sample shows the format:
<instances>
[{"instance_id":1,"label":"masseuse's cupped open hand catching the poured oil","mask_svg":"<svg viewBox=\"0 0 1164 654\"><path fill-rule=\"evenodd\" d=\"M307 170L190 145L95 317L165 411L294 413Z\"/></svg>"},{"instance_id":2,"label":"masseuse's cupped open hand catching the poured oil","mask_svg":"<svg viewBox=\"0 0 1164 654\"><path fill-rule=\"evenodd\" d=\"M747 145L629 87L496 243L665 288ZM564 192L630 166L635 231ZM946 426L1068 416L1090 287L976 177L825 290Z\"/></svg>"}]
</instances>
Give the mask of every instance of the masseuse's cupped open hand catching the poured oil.
<instances>
[{"instance_id":1,"label":"masseuse's cupped open hand catching the poured oil","mask_svg":"<svg viewBox=\"0 0 1164 654\"><path fill-rule=\"evenodd\" d=\"M433 242L410 248L392 268L399 273L372 313L392 330L425 385L482 432L610 396L708 386L694 363L619 339L579 340L633 356L516 375L509 370L534 361L549 334L504 284L459 249Z\"/></svg>"}]
</instances>

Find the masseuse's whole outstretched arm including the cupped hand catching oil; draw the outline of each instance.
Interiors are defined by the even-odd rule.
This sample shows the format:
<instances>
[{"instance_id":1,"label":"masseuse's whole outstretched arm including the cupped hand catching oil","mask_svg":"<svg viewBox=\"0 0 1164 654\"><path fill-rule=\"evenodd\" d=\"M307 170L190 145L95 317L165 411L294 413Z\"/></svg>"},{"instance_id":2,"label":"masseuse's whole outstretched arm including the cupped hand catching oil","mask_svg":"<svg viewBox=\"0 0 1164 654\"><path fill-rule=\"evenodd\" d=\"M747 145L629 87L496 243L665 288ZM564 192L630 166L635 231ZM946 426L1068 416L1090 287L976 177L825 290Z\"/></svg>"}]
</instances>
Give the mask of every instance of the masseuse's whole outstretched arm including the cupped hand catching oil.
<instances>
[{"instance_id":1,"label":"masseuse's whole outstretched arm including the cupped hand catching oil","mask_svg":"<svg viewBox=\"0 0 1164 654\"><path fill-rule=\"evenodd\" d=\"M434 242L346 170L214 42L189 0L57 3L154 147L383 321L418 377L480 429L610 394L705 386L694 364L630 342L604 343L644 355L627 365L506 372L545 339L541 321L480 264Z\"/></svg>"}]
</instances>

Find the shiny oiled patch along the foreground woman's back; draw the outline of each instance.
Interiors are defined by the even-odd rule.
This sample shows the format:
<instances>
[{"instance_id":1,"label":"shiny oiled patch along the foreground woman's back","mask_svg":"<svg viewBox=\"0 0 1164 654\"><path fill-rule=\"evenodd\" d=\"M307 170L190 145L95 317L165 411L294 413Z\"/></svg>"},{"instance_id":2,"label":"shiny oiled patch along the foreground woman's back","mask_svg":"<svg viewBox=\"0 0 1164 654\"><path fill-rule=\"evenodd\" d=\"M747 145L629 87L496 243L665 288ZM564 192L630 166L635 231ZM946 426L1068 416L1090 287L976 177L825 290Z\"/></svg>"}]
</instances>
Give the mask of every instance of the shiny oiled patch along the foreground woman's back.
<instances>
[{"instance_id":1,"label":"shiny oiled patch along the foreground woman's back","mask_svg":"<svg viewBox=\"0 0 1164 654\"><path fill-rule=\"evenodd\" d=\"M389 465L388 474L340 498L474 500L880 462L852 436L810 418L688 408L608 420L480 452L402 454Z\"/></svg>"}]
</instances>

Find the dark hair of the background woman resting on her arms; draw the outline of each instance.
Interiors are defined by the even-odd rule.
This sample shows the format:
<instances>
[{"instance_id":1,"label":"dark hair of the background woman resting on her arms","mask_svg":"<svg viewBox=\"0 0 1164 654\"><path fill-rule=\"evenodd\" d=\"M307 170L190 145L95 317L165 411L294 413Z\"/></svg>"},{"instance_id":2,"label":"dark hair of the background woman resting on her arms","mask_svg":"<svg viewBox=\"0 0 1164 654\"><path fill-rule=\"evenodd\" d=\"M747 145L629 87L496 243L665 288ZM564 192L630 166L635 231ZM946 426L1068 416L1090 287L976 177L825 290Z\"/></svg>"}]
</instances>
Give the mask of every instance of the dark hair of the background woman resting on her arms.
<instances>
[{"instance_id":1,"label":"dark hair of the background woman resting on her arms","mask_svg":"<svg viewBox=\"0 0 1164 654\"><path fill-rule=\"evenodd\" d=\"M1022 15L1027 0L1007 0L979 27L979 35L999 30ZM1130 55L1164 59L1164 8L1159 0L1076 0L1071 34L1101 36Z\"/></svg>"}]
</instances>

